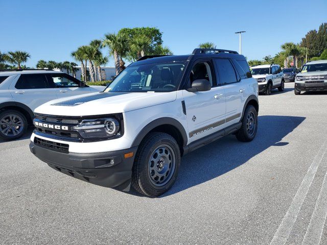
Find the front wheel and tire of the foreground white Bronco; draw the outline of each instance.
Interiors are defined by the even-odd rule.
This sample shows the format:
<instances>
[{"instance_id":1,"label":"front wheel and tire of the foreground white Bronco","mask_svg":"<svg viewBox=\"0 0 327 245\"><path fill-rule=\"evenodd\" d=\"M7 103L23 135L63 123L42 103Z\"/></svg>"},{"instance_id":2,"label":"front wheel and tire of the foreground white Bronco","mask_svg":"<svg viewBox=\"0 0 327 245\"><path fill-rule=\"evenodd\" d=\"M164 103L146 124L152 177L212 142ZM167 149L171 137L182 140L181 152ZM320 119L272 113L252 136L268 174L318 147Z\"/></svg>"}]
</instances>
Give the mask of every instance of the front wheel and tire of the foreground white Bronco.
<instances>
[{"instance_id":1,"label":"front wheel and tire of the foreground white Bronco","mask_svg":"<svg viewBox=\"0 0 327 245\"><path fill-rule=\"evenodd\" d=\"M132 169L132 186L149 197L168 191L178 175L179 145L169 134L152 132L139 145Z\"/></svg>"}]
</instances>

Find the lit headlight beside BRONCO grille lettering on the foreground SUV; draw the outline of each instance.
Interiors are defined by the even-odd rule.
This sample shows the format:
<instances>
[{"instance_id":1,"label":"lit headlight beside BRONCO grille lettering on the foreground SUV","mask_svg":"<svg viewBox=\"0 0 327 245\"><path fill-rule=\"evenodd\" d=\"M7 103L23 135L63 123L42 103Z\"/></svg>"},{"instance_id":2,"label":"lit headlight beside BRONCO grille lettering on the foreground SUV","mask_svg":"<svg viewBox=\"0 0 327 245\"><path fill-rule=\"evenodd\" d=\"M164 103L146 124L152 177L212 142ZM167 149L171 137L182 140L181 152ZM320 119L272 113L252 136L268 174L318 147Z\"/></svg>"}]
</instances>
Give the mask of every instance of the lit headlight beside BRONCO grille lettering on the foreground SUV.
<instances>
[{"instance_id":1,"label":"lit headlight beside BRONCO grille lettering on the foreground SUV","mask_svg":"<svg viewBox=\"0 0 327 245\"><path fill-rule=\"evenodd\" d=\"M114 117L100 119L85 119L79 125L72 127L83 138L108 138L113 137L120 131L119 121Z\"/></svg>"}]
</instances>

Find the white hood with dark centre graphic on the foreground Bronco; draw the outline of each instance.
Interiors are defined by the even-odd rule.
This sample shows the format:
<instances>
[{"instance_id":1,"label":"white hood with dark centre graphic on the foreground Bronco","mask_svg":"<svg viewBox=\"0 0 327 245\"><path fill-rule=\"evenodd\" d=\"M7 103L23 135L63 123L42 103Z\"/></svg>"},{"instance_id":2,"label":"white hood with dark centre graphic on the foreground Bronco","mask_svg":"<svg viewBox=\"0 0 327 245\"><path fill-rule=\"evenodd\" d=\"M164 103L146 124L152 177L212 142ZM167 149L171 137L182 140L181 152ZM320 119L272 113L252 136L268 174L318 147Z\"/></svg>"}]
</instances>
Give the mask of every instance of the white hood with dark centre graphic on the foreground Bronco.
<instances>
[{"instance_id":1,"label":"white hood with dark centre graphic on the foreground Bronco","mask_svg":"<svg viewBox=\"0 0 327 245\"><path fill-rule=\"evenodd\" d=\"M97 92L47 102L34 112L61 116L87 116L121 113L176 100L172 92Z\"/></svg>"}]
</instances>

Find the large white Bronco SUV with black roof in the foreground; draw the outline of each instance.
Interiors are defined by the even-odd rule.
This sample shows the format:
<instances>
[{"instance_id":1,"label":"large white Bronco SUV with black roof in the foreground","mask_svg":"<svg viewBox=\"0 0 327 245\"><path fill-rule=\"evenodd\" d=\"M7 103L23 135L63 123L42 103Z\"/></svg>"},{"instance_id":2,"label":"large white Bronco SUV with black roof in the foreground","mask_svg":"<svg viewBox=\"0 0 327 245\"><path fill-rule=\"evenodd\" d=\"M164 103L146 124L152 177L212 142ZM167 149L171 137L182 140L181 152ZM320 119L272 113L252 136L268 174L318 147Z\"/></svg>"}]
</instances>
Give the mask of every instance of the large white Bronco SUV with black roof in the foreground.
<instances>
[{"instance_id":1,"label":"large white Bronco SUV with black roof in the foreground","mask_svg":"<svg viewBox=\"0 0 327 245\"><path fill-rule=\"evenodd\" d=\"M186 153L228 134L251 141L258 110L258 83L235 51L146 56L104 92L36 108L30 149L67 175L156 197Z\"/></svg>"}]
</instances>

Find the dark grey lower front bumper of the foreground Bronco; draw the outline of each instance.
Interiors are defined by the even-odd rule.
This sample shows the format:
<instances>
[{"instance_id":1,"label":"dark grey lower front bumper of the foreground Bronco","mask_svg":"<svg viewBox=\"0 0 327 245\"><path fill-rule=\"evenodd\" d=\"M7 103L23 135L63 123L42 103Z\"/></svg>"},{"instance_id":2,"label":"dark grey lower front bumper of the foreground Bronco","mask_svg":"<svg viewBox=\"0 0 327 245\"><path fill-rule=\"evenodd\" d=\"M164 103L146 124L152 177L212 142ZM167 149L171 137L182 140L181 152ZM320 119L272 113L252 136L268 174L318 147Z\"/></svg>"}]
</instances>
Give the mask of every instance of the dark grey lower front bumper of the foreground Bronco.
<instances>
[{"instance_id":1,"label":"dark grey lower front bumper of the foreground Bronco","mask_svg":"<svg viewBox=\"0 0 327 245\"><path fill-rule=\"evenodd\" d=\"M104 153L62 153L30 143L31 152L40 160L62 173L105 187L128 191L137 146ZM125 158L126 153L133 153Z\"/></svg>"}]
</instances>

